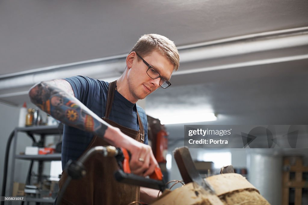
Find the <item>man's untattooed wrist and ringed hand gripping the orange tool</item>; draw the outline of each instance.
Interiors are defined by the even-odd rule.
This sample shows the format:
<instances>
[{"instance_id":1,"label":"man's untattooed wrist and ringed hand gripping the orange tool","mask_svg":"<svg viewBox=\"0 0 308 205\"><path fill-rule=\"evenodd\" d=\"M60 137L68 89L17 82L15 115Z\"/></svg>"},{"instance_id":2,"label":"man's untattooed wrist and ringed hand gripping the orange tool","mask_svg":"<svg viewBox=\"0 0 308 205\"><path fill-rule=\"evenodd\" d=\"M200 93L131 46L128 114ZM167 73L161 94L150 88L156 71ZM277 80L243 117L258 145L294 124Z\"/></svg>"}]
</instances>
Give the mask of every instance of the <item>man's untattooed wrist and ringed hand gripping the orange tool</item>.
<instances>
[{"instance_id":1,"label":"man's untattooed wrist and ringed hand gripping the orange tool","mask_svg":"<svg viewBox=\"0 0 308 205\"><path fill-rule=\"evenodd\" d=\"M133 174L148 176L158 167L152 148L125 135L120 129L108 127L104 140L112 146L125 148L131 153L129 165Z\"/></svg>"}]
</instances>

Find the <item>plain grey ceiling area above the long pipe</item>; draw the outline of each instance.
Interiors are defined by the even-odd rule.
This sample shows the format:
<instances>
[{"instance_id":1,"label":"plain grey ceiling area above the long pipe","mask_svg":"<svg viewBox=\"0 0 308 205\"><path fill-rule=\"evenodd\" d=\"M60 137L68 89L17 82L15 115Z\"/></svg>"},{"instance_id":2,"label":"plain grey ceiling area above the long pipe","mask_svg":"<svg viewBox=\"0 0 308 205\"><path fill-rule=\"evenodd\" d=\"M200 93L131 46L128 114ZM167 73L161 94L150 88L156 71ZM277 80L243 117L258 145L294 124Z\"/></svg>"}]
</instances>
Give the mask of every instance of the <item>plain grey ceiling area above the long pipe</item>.
<instances>
[{"instance_id":1,"label":"plain grey ceiling area above the long pipe","mask_svg":"<svg viewBox=\"0 0 308 205\"><path fill-rule=\"evenodd\" d=\"M0 75L128 53L147 33L177 46L308 26L306 0L0 3Z\"/></svg>"}]
</instances>

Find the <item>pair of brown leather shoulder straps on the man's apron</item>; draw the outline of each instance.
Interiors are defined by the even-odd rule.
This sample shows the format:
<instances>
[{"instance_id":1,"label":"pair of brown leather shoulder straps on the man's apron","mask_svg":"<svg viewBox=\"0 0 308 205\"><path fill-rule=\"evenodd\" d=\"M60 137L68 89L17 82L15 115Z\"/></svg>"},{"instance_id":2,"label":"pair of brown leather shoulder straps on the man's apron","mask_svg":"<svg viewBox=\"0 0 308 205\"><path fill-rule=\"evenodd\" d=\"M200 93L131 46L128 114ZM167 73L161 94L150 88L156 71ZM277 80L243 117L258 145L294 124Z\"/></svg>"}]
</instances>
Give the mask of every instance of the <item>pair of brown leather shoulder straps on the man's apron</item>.
<instances>
[{"instance_id":1,"label":"pair of brown leather shoulder straps on the man's apron","mask_svg":"<svg viewBox=\"0 0 308 205\"><path fill-rule=\"evenodd\" d=\"M106 111L105 111L104 118L109 118L112 103L113 103L113 100L114 100L114 97L115 97L115 87L116 87L116 81L109 83L108 95L107 95L107 104L106 104ZM142 143L144 143L144 126L143 126L142 120L139 116L137 107L136 107L136 112L137 112L138 124L139 124L139 128L140 128L140 140L141 140Z\"/></svg>"}]
</instances>

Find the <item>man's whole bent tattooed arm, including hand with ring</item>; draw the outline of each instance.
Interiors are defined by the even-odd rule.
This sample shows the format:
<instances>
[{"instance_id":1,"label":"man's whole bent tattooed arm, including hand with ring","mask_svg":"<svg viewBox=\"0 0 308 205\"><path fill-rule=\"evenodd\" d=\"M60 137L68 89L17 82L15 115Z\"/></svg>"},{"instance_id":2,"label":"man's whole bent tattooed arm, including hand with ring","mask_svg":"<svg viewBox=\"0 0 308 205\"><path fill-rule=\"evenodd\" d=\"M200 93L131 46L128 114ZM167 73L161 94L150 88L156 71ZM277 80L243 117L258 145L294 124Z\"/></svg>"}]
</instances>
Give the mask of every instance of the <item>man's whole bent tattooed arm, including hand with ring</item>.
<instances>
[{"instance_id":1,"label":"man's whole bent tattooed arm, including hand with ring","mask_svg":"<svg viewBox=\"0 0 308 205\"><path fill-rule=\"evenodd\" d=\"M158 166L150 146L137 142L111 126L74 97L71 84L66 80L52 80L34 85L29 96L40 109L64 124L88 131L109 144L131 152L132 173L147 176ZM140 162L138 159L143 158Z\"/></svg>"}]
</instances>

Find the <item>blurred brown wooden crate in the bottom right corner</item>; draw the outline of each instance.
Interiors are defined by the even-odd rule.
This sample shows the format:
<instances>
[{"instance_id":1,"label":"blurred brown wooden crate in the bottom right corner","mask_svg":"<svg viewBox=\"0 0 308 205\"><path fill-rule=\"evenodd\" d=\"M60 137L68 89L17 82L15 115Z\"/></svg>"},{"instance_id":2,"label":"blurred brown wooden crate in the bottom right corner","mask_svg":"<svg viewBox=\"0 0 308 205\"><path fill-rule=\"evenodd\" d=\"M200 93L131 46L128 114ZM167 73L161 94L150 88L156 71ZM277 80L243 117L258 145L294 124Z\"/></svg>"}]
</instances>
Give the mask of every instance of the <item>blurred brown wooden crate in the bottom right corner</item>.
<instances>
[{"instance_id":1,"label":"blurred brown wooden crate in the bottom right corner","mask_svg":"<svg viewBox=\"0 0 308 205\"><path fill-rule=\"evenodd\" d=\"M308 167L303 166L302 157L284 157L282 174L282 205L302 205L303 189L308 188L307 173Z\"/></svg>"}]
</instances>

